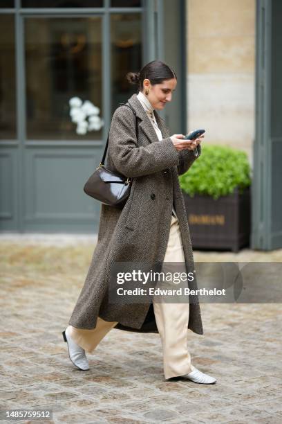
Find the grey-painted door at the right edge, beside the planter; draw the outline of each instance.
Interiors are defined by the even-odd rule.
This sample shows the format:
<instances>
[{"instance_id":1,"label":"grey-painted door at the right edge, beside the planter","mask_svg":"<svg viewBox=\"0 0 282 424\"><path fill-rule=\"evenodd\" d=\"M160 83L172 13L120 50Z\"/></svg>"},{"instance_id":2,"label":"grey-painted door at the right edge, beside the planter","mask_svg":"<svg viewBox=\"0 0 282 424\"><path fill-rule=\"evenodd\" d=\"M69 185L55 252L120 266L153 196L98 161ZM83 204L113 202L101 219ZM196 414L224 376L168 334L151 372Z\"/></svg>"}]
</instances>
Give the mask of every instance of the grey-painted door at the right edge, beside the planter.
<instances>
[{"instance_id":1,"label":"grey-painted door at the right edge, beside the planter","mask_svg":"<svg viewBox=\"0 0 282 424\"><path fill-rule=\"evenodd\" d=\"M252 248L282 247L282 2L258 0Z\"/></svg>"}]
</instances>

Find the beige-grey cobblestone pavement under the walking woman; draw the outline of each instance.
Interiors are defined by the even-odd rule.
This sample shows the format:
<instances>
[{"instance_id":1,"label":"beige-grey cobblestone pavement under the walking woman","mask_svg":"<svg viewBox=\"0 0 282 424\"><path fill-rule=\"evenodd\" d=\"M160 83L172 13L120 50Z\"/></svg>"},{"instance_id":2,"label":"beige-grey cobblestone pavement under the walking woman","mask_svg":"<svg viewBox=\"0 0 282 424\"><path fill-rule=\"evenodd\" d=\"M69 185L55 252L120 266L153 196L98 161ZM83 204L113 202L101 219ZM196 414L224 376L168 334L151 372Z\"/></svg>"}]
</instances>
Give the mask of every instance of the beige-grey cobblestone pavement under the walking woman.
<instances>
[{"instance_id":1,"label":"beige-grey cobblestone pavement under the walking woman","mask_svg":"<svg viewBox=\"0 0 282 424\"><path fill-rule=\"evenodd\" d=\"M75 369L62 330L94 244L69 241L1 238L0 409L53 409L54 423L281 423L279 304L202 305L205 335L189 331L189 351L216 385L166 382L158 334L111 330L91 369ZM281 261L282 250L195 259Z\"/></svg>"}]
</instances>

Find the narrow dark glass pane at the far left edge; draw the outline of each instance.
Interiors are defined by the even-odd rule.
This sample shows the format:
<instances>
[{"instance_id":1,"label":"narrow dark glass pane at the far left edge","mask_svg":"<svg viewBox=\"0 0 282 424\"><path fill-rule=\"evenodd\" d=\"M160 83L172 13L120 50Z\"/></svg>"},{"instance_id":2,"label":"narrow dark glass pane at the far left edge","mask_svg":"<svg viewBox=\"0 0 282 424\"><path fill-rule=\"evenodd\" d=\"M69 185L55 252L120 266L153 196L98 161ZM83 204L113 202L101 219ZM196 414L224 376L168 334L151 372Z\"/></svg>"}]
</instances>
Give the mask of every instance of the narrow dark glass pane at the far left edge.
<instances>
[{"instance_id":1,"label":"narrow dark glass pane at the far left edge","mask_svg":"<svg viewBox=\"0 0 282 424\"><path fill-rule=\"evenodd\" d=\"M0 139L16 139L15 18L0 15Z\"/></svg>"}]
</instances>

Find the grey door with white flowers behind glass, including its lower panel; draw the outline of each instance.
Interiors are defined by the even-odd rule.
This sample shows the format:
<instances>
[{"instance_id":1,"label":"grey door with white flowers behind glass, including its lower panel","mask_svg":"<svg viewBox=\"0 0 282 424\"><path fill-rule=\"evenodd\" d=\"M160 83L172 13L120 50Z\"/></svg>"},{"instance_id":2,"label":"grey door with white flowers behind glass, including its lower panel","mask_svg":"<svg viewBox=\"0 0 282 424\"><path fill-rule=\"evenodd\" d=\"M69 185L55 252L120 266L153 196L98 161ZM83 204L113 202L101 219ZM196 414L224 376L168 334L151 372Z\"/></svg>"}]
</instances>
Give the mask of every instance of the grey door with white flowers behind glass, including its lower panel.
<instances>
[{"instance_id":1,"label":"grey door with white flowers behind glass, including its lower panel","mask_svg":"<svg viewBox=\"0 0 282 424\"><path fill-rule=\"evenodd\" d=\"M97 226L83 186L102 151L102 27L95 15L23 17L23 231Z\"/></svg>"}]
</instances>

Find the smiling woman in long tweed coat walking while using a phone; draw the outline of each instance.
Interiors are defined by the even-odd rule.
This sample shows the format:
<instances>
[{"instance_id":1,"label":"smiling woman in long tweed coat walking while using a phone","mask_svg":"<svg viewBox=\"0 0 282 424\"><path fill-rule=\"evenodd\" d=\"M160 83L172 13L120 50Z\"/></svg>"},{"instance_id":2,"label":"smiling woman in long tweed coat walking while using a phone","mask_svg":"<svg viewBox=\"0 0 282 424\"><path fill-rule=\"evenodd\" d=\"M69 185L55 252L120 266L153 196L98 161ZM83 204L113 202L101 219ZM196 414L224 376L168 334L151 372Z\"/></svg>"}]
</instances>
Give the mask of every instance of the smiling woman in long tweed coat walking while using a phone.
<instances>
[{"instance_id":1,"label":"smiling woman in long tweed coat walking while using a phone","mask_svg":"<svg viewBox=\"0 0 282 424\"><path fill-rule=\"evenodd\" d=\"M189 303L109 302L112 264L134 261L171 263L194 270L187 213L178 175L200 156L202 137L184 141L182 134L169 136L157 110L164 109L176 89L176 73L154 60L140 73L127 74L138 84L128 106L115 110L109 132L106 167L132 177L131 193L123 209L102 204L98 240L82 292L68 327L63 331L68 354L75 366L89 369L86 352L92 353L111 328L159 333L164 378L182 377L212 384L216 379L191 364L188 329L203 334L197 296ZM137 120L137 131L136 131ZM189 281L197 289L196 278Z\"/></svg>"}]
</instances>

